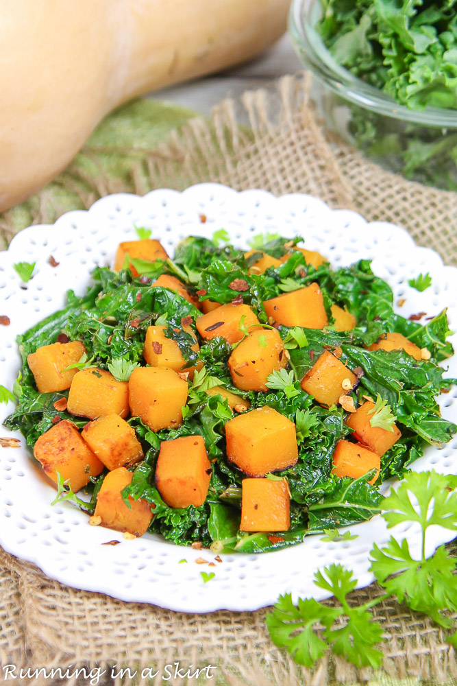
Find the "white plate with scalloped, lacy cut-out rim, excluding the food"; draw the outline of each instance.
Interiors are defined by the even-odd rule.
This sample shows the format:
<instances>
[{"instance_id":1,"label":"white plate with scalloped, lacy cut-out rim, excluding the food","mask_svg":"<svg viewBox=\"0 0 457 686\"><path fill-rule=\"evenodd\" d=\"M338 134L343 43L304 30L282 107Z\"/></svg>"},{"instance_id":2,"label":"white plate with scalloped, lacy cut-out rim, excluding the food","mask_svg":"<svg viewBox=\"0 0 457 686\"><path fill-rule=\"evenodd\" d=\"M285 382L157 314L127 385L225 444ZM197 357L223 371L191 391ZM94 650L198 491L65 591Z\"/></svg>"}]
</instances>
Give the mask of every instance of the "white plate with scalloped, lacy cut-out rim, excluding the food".
<instances>
[{"instance_id":1,"label":"white plate with scalloped, lacy cut-out rim, excluding the food","mask_svg":"<svg viewBox=\"0 0 457 686\"><path fill-rule=\"evenodd\" d=\"M206 215L205 223L200 215ZM399 309L404 316L418 311L437 314L447 306L450 327L457 329L457 269L443 266L435 252L415 246L408 233L393 224L368 224L354 212L332 211L310 196L274 198L265 191L237 193L215 184L194 186L184 193L158 190L143 198L121 194L99 200L88 212L69 212L53 226L31 226L13 239L7 252L0 253L0 315L11 320L9 327L0 326L3 386L12 388L20 366L16 335L63 307L66 289L83 294L95 265L112 264L119 241L136 238L134 224L151 228L153 237L171 253L182 237L211 237L219 228L228 230L233 243L243 248L254 233L303 235L307 248L323 252L335 266L362 257L372 259L375 273L393 287L395 302L406 298ZM58 267L51 267L50 255ZM27 290L21 289L12 267L18 261L36 261ZM432 287L422 294L408 286L408 279L420 272L432 276ZM455 346L456 335L451 340ZM457 376L456 356L445 366L449 366L447 376ZM453 388L440 400L443 416L454 422L456 396ZM13 403L0 405L0 421L13 408ZM1 427L0 436L7 435ZM354 569L360 587L365 586L373 580L368 571L373 541L382 545L390 534L381 517L375 517L351 528L358 534L353 541L323 543L320 536L309 536L300 545L269 554L223 556L222 563L208 568L195 564L199 557L214 559L207 550L179 547L149 534L125 541L116 532L90 527L88 517L70 504L51 507L53 488L23 444L22 439L20 449L0 449L1 545L53 579L122 600L210 612L254 610L288 591L294 598L323 598L325 593L312 583L314 571L341 561ZM455 473L456 445L454 438L442 450L429 447L413 469ZM399 534L396 529L395 535ZM417 531L410 528L407 535L413 551L419 551ZM449 530L436 528L429 536L430 549L453 536ZM101 545L112 539L121 543ZM183 558L188 563L178 564ZM201 571L214 571L216 576L203 584Z\"/></svg>"}]
</instances>

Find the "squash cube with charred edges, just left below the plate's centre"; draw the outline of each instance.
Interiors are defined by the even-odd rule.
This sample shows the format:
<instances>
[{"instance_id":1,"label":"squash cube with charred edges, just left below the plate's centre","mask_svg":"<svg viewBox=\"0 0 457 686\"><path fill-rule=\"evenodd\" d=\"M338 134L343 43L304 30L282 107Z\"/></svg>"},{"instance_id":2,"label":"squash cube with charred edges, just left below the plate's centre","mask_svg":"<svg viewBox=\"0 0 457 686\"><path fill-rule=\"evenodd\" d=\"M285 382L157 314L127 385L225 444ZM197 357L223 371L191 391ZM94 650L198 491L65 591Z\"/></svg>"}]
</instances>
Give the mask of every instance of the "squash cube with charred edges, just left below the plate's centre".
<instances>
[{"instance_id":1,"label":"squash cube with charred edges, just left below the plate's centre","mask_svg":"<svg viewBox=\"0 0 457 686\"><path fill-rule=\"evenodd\" d=\"M212 469L201 436L163 440L156 466L156 486L171 508L198 508L206 500Z\"/></svg>"}]
</instances>

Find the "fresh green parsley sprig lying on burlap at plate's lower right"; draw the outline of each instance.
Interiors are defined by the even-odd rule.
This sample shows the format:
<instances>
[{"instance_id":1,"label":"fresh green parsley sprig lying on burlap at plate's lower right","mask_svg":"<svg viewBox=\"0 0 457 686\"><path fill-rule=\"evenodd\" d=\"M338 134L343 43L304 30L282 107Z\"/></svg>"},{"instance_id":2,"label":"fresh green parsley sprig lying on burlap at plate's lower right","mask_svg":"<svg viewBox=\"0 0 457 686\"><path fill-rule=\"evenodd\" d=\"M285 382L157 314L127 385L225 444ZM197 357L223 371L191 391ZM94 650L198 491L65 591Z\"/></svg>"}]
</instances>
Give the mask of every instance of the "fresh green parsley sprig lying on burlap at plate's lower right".
<instances>
[{"instance_id":1,"label":"fresh green parsley sprig lying on burlap at plate's lower right","mask_svg":"<svg viewBox=\"0 0 457 686\"><path fill-rule=\"evenodd\" d=\"M334 595L336 606L312 598L299 598L294 604L290 593L282 595L266 619L273 643L307 667L332 650L358 667L377 668L382 661L382 652L377 648L382 627L373 622L370 608L392 595L441 626L452 628L454 624L455 628L456 622L443 612L457 610L457 560L449 556L443 545L427 558L426 532L432 525L457 531L456 488L457 476L447 477L433 471L408 474L382 502L383 517L388 528L402 523L420 525L420 558L412 556L406 539L399 542L391 537L383 547L374 545L371 571L386 593L358 606L352 606L348 598L357 585L352 571L342 565L317 571L314 583ZM332 530L325 533L329 534L326 540L334 540ZM457 632L447 640L457 646Z\"/></svg>"}]
</instances>

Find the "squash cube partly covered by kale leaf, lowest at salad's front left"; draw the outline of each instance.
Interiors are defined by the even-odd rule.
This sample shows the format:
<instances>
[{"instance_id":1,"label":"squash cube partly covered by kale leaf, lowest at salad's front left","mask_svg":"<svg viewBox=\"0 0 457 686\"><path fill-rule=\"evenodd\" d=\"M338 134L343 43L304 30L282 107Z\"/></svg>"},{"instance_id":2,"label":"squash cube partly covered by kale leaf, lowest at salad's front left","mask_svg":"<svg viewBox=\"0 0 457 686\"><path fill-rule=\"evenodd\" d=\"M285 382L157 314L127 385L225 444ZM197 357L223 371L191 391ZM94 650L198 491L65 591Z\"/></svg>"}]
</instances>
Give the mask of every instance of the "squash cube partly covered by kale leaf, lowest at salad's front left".
<instances>
[{"instance_id":1,"label":"squash cube partly covered by kale leaf, lowest at salad's front left","mask_svg":"<svg viewBox=\"0 0 457 686\"><path fill-rule=\"evenodd\" d=\"M122 491L132 482L133 474L125 467L110 471L103 479L97 495L95 517L101 517L101 526L115 531L127 531L134 536L143 536L153 517L154 506L147 501L128 497L125 504Z\"/></svg>"}]
</instances>

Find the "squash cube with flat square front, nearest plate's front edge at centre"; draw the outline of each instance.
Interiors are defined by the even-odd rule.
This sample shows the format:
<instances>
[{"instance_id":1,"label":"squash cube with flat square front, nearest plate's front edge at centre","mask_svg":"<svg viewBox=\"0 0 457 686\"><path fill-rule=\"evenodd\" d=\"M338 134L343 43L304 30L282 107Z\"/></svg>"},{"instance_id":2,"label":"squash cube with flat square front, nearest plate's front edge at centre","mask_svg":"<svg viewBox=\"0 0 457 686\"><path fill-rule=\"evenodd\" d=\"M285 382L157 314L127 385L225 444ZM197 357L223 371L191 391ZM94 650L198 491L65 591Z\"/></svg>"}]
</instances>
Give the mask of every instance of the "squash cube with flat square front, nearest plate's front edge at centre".
<instances>
[{"instance_id":1,"label":"squash cube with flat square front, nearest plate's front edge at centre","mask_svg":"<svg viewBox=\"0 0 457 686\"><path fill-rule=\"evenodd\" d=\"M291 498L286 480L243 479L240 531L287 531Z\"/></svg>"}]
</instances>

